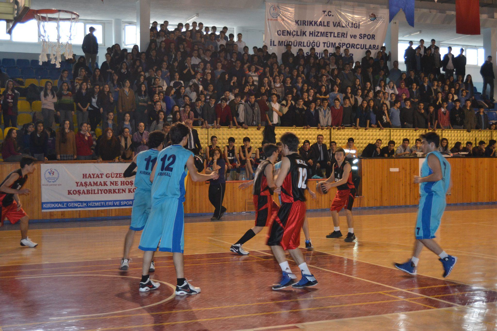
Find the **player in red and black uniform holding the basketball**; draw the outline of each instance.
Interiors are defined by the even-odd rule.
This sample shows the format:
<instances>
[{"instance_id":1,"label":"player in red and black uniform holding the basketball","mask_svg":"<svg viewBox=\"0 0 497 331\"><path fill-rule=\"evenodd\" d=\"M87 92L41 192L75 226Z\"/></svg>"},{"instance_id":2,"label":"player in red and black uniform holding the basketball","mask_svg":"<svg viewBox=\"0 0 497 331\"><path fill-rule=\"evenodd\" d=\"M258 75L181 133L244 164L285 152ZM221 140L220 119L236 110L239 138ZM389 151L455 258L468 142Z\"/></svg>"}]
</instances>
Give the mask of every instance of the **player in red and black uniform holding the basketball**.
<instances>
[{"instance_id":1,"label":"player in red and black uniform holding the basketball","mask_svg":"<svg viewBox=\"0 0 497 331\"><path fill-rule=\"evenodd\" d=\"M354 234L354 219L352 218L352 204L354 204L355 185L352 181L352 167L345 160L345 150L341 147L335 151L335 164L333 164L333 172L330 178L321 182L323 188L329 191L332 187L336 187L336 194L331 202L331 217L333 218L333 232L326 238L340 238L340 222L338 212L344 208L345 216L347 217L348 233L345 242L349 243L355 240ZM318 184L319 185L319 184Z\"/></svg>"}]
</instances>

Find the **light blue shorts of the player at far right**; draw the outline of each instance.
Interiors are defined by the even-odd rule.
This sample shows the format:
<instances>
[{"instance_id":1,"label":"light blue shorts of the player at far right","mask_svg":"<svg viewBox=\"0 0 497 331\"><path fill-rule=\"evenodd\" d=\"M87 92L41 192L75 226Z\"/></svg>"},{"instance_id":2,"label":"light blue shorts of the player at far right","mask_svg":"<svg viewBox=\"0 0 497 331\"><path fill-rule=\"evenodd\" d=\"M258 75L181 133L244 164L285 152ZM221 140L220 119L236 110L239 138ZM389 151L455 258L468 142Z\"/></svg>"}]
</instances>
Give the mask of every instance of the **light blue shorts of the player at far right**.
<instances>
[{"instance_id":1,"label":"light blue shorts of the player at far right","mask_svg":"<svg viewBox=\"0 0 497 331\"><path fill-rule=\"evenodd\" d=\"M433 194L421 196L417 211L416 228L414 229L416 239L435 238L435 232L440 226L445 206L445 197L442 198Z\"/></svg>"}]
</instances>

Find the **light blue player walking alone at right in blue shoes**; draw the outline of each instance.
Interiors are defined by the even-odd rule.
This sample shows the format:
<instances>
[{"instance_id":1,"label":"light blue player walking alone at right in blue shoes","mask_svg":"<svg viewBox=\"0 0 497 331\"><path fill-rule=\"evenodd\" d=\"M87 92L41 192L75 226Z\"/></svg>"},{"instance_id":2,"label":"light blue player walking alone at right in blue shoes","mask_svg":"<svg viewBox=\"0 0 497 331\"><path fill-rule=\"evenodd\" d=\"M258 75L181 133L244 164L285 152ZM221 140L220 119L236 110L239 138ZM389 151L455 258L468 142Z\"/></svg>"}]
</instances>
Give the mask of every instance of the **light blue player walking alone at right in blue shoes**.
<instances>
[{"instance_id":1,"label":"light blue player walking alone at right in blue shoes","mask_svg":"<svg viewBox=\"0 0 497 331\"><path fill-rule=\"evenodd\" d=\"M421 176L414 176L414 183L420 184L419 209L417 211L414 236L413 258L395 266L409 274L416 274L419 255L425 246L440 257L443 265L443 276L447 277L457 262L457 257L448 255L440 248L435 238L435 232L440 226L443 211L445 210L445 195L450 187L450 164L438 151L440 137L435 132L421 134L421 147L426 158L421 166Z\"/></svg>"}]
</instances>

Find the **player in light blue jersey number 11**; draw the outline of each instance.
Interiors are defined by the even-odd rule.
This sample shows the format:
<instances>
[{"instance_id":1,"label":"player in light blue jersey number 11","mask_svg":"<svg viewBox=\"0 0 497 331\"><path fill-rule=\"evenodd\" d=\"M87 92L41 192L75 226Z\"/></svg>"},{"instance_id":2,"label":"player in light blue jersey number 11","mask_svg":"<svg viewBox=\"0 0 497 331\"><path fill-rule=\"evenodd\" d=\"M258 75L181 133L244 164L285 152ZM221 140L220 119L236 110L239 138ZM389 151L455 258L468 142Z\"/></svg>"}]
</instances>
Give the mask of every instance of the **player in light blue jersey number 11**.
<instances>
[{"instance_id":1,"label":"player in light blue jersey number 11","mask_svg":"<svg viewBox=\"0 0 497 331\"><path fill-rule=\"evenodd\" d=\"M150 181L150 173L157 161L157 155L164 146L164 138L166 137L163 131L154 131L149 134L147 146L150 148L135 155L129 167L124 171L123 177L135 176L135 199L133 201L133 209L131 209L131 225L124 239L124 253L121 260L121 270L128 270L129 259L128 254L133 246L136 231L141 231L149 218L150 208L152 207L151 193L152 182ZM137 168L136 171L135 168ZM155 271L154 261L150 265L150 271Z\"/></svg>"}]
</instances>

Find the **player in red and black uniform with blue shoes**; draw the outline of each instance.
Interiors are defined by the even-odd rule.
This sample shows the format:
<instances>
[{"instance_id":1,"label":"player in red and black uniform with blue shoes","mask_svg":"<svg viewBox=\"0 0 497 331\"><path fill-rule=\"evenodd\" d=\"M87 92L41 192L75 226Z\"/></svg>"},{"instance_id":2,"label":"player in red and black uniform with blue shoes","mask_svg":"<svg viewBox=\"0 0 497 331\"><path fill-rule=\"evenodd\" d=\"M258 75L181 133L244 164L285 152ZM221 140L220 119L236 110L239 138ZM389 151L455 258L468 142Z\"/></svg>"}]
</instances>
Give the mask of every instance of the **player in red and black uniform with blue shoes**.
<instances>
[{"instance_id":1,"label":"player in red and black uniform with blue shoes","mask_svg":"<svg viewBox=\"0 0 497 331\"><path fill-rule=\"evenodd\" d=\"M299 250L300 229L306 217L304 191L307 189L313 198L316 194L307 186L309 167L302 156L297 153L299 138L292 132L281 136L283 158L276 178L276 192L281 192L281 206L269 231L267 245L271 247L274 258L278 261L283 277L278 284L272 286L279 290L293 284L297 277L292 273L285 251L288 250L302 272L302 279L292 287L303 288L314 286L318 282L304 261Z\"/></svg>"}]
</instances>

